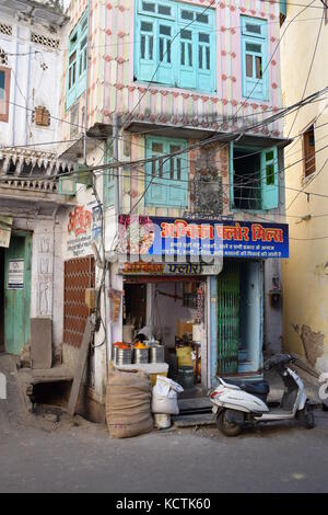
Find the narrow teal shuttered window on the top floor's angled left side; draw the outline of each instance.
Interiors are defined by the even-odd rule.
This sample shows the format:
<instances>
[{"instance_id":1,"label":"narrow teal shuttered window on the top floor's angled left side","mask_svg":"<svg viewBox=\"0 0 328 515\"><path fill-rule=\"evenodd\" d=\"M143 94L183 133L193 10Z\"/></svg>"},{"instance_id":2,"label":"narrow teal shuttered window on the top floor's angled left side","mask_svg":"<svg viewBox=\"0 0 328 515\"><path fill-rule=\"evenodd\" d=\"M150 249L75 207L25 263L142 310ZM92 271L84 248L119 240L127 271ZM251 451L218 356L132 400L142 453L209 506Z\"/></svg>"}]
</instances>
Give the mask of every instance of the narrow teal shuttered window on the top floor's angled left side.
<instances>
[{"instance_id":1,"label":"narrow teal shuttered window on the top floor's angled left side","mask_svg":"<svg viewBox=\"0 0 328 515\"><path fill-rule=\"evenodd\" d=\"M69 38L66 108L70 108L86 88L87 15L81 18Z\"/></svg>"}]
</instances>

